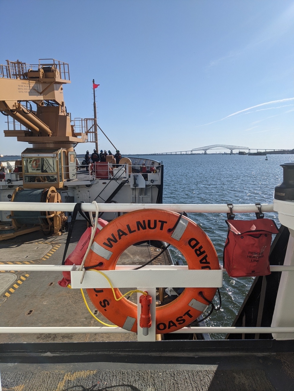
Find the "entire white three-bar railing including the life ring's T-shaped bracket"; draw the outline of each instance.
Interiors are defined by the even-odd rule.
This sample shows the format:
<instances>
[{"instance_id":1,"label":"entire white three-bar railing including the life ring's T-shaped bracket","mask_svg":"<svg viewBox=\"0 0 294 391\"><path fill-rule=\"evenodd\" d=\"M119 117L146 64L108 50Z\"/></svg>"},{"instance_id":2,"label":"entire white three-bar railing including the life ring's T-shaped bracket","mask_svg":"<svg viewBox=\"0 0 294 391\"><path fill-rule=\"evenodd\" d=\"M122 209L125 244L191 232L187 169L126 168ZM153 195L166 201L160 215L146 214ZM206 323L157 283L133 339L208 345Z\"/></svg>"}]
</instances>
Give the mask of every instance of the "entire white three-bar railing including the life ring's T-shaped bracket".
<instances>
[{"instance_id":1,"label":"entire white three-bar railing including the life ring's T-shaped bracket","mask_svg":"<svg viewBox=\"0 0 294 391\"><path fill-rule=\"evenodd\" d=\"M59 204L60 205L60 204ZM71 212L74 209L72 203L63 203L62 210ZM44 208L43 203L0 203L1 210L27 210L38 211ZM142 209L169 210L174 212L189 213L227 213L229 207L227 204L98 204L100 212L131 212ZM95 212L93 204L82 204L82 210ZM273 212L273 204L261 204L263 212ZM257 212L255 204L236 204L233 205L233 212L252 213ZM94 271L86 271L83 282L80 283L82 271L78 271L75 265L1 265L0 269L9 271L71 271L71 281L73 289L94 288L97 284L101 288L108 288L106 279ZM155 341L155 311L156 311L156 287L158 286L181 286L181 287L221 287L223 271L219 270L188 270L187 266L174 265L148 265L142 270L133 270L134 265L118 265L116 270L103 271L112 281L114 287L129 287L130 285L138 287L143 291L148 291L152 297L151 317L153 326L149 329L149 334L144 336L140 328L140 311L138 305L138 341ZM294 266L272 265L270 270L273 272L294 271ZM131 281L131 283L130 283ZM139 300L140 294L138 294ZM131 333L120 327L0 327L0 333ZM282 333L294 334L294 327L184 327L173 333L218 333L218 334L267 334Z\"/></svg>"}]
</instances>

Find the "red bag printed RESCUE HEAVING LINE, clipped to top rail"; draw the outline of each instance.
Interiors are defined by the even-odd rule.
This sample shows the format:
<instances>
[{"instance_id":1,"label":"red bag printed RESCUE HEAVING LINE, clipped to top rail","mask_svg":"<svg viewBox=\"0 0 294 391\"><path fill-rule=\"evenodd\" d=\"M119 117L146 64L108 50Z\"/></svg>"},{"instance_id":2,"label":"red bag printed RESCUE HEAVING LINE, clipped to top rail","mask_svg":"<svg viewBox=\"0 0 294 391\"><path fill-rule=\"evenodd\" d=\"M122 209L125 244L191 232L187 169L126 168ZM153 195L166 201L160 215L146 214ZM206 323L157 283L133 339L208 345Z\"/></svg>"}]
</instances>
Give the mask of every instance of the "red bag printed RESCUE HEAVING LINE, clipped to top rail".
<instances>
[{"instance_id":1,"label":"red bag printed RESCUE HEAVING LINE, clipped to top rail","mask_svg":"<svg viewBox=\"0 0 294 391\"><path fill-rule=\"evenodd\" d=\"M270 219L226 220L229 227L223 250L223 267L230 277L270 274L269 252L272 234L278 233Z\"/></svg>"}]
</instances>

